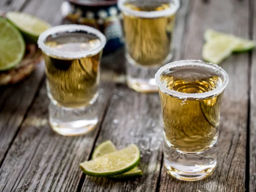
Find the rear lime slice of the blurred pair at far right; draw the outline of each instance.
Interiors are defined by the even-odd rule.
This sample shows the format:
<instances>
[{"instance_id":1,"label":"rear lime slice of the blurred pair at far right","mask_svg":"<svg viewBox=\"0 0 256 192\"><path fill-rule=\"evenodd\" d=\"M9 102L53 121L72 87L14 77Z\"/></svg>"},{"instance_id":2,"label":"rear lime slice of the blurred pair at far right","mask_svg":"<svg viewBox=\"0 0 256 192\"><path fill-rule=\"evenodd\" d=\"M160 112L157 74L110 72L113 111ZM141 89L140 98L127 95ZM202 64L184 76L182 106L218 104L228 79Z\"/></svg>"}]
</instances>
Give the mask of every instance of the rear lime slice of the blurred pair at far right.
<instances>
[{"instance_id":1,"label":"rear lime slice of the blurred pair at far right","mask_svg":"<svg viewBox=\"0 0 256 192\"><path fill-rule=\"evenodd\" d=\"M212 40L215 40L215 38L220 38L220 37L231 39L232 41L236 41L237 45L236 45L236 47L233 48L233 50L232 50L233 52L248 51L250 49L253 49L256 45L253 41L243 39L243 38L238 38L234 35L230 35L227 33L218 32L213 29L207 29L204 32L204 40L205 41L212 41Z\"/></svg>"}]
</instances>

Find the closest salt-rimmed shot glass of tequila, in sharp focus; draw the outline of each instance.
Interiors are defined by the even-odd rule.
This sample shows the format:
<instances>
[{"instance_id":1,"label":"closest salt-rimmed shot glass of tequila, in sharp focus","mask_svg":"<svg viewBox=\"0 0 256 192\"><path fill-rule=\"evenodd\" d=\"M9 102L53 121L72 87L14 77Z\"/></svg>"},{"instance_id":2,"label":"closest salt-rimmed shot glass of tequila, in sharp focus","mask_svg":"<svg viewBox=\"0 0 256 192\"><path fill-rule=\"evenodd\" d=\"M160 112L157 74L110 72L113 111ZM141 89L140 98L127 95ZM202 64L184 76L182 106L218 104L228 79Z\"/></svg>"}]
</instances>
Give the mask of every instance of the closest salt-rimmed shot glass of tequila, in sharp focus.
<instances>
[{"instance_id":1,"label":"closest salt-rimmed shot glass of tequila, in sharp focus","mask_svg":"<svg viewBox=\"0 0 256 192\"><path fill-rule=\"evenodd\" d=\"M162 115L167 172L180 180L201 180L217 163L221 100L228 84L218 65L175 61L155 75Z\"/></svg>"}]
</instances>

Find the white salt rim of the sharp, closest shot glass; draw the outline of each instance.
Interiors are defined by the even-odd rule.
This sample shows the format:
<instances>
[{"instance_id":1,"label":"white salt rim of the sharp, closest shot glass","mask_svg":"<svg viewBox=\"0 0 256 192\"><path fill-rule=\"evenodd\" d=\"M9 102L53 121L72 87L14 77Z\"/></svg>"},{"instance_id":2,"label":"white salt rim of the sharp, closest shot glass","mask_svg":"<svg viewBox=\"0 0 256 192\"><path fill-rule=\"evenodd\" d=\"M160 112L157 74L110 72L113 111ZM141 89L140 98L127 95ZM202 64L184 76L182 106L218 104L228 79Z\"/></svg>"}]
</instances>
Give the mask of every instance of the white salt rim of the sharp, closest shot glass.
<instances>
[{"instance_id":1,"label":"white salt rim of the sharp, closest shot glass","mask_svg":"<svg viewBox=\"0 0 256 192\"><path fill-rule=\"evenodd\" d=\"M220 87L217 87L216 89L207 91L205 93L181 93L181 92L177 92L175 90L168 89L161 83L160 75L165 70L169 70L169 69L176 68L176 67L183 67L183 66L192 66L192 67L193 66L201 66L201 67L206 67L208 69L210 68L215 71L218 70L218 72L221 73L221 76L224 78L224 81ZM204 62L201 60L180 60L180 61L174 61L172 63L166 64L165 66L161 67L155 75L155 81L156 81L158 88L163 93L165 93L167 95L175 96L179 99L188 99L188 98L204 99L204 98L209 98L211 96L216 96L216 95L222 93L228 84L228 75L227 75L227 72L224 71L224 69L222 69L220 66L218 66L216 64L207 63L207 62Z\"/></svg>"}]
</instances>

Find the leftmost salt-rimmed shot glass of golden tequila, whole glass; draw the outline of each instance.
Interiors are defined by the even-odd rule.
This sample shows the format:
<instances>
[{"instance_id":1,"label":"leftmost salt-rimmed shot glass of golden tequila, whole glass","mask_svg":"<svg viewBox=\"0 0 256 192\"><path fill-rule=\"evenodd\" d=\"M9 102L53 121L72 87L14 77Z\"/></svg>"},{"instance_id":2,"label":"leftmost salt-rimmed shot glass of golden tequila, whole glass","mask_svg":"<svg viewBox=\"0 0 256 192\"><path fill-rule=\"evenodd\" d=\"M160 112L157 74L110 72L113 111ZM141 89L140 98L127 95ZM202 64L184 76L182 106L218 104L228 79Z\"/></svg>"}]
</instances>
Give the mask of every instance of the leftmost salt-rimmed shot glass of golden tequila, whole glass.
<instances>
[{"instance_id":1,"label":"leftmost salt-rimmed shot glass of golden tequila, whole glass","mask_svg":"<svg viewBox=\"0 0 256 192\"><path fill-rule=\"evenodd\" d=\"M106 38L82 25L55 26L38 38L47 76L49 123L66 136L85 134L98 123L99 76Z\"/></svg>"}]
</instances>

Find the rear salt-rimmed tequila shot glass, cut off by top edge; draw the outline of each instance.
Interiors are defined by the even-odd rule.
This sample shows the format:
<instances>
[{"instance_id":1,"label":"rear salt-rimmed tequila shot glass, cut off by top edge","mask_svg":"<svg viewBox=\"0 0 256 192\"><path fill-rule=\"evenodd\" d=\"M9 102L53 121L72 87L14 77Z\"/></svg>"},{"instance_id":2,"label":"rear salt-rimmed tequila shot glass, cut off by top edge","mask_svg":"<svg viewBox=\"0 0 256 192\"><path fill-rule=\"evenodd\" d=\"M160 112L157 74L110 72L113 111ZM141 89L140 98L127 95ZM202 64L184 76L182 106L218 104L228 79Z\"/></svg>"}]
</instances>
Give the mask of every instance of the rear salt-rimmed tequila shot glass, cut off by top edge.
<instances>
[{"instance_id":1,"label":"rear salt-rimmed tequila shot glass, cut off by top edge","mask_svg":"<svg viewBox=\"0 0 256 192\"><path fill-rule=\"evenodd\" d=\"M174 27L180 0L119 0L123 14L126 77L130 88L155 92L154 74L174 54Z\"/></svg>"}]
</instances>

